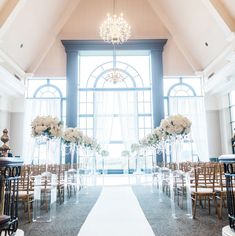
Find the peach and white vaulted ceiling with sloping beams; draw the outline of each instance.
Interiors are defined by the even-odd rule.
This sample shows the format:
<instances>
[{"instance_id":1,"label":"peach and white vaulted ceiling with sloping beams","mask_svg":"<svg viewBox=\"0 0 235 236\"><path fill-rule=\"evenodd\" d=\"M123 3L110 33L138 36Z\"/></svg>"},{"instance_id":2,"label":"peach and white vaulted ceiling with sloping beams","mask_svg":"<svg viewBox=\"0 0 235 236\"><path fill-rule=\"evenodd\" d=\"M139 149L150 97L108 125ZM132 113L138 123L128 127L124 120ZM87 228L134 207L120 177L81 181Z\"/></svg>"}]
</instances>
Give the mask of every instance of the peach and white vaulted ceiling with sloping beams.
<instances>
[{"instance_id":1,"label":"peach and white vaulted ceiling with sloping beams","mask_svg":"<svg viewBox=\"0 0 235 236\"><path fill-rule=\"evenodd\" d=\"M112 0L0 0L0 65L18 77L48 61L63 67L60 40L99 39L111 9ZM194 72L210 77L234 58L234 0L116 0L116 11L132 39L167 38Z\"/></svg>"}]
</instances>

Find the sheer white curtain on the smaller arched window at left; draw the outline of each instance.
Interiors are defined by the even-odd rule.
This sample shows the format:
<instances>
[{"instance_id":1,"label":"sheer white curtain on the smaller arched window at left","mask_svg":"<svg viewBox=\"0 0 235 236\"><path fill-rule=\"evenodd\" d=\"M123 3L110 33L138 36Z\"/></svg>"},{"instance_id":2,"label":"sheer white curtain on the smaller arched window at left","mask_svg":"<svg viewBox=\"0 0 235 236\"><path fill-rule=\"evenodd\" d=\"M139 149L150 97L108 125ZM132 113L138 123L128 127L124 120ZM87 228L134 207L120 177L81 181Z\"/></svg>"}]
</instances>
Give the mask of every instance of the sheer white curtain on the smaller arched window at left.
<instances>
[{"instance_id":1,"label":"sheer white curtain on the smaller arched window at left","mask_svg":"<svg viewBox=\"0 0 235 236\"><path fill-rule=\"evenodd\" d=\"M25 116L24 116L24 148L23 159L24 163L31 163L35 155L35 139L31 136L31 122L39 115L51 115L61 117L61 99L26 99L25 101ZM52 162L58 162L60 157L60 150L58 145L53 145L53 152L56 159L52 159Z\"/></svg>"}]
</instances>

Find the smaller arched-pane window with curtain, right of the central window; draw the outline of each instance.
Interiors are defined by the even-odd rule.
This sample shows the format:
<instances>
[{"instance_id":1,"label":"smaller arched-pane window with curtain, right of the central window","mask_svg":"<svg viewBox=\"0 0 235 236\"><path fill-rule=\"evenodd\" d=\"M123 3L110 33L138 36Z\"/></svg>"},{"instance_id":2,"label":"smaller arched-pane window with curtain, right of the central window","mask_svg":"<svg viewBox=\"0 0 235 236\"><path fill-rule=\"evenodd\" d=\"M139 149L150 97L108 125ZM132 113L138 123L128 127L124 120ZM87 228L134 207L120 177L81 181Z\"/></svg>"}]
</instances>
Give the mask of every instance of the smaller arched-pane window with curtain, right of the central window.
<instances>
[{"instance_id":1,"label":"smaller arched-pane window with curtain, right of the central window","mask_svg":"<svg viewBox=\"0 0 235 236\"><path fill-rule=\"evenodd\" d=\"M205 104L200 77L164 78L165 114L182 114L192 121L192 145L185 145L183 161L208 161Z\"/></svg>"}]
</instances>

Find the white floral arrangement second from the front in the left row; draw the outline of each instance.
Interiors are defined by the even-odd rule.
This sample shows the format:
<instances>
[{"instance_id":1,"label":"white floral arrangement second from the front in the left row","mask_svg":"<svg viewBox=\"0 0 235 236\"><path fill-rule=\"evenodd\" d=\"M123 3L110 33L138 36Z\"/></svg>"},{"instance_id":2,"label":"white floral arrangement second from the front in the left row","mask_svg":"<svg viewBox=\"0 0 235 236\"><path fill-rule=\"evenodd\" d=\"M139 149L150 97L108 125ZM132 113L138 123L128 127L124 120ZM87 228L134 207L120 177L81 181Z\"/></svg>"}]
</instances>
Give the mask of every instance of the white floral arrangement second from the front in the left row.
<instances>
[{"instance_id":1,"label":"white floral arrangement second from the front in the left row","mask_svg":"<svg viewBox=\"0 0 235 236\"><path fill-rule=\"evenodd\" d=\"M64 144L74 143L80 146L83 142L83 133L78 128L66 128L61 139Z\"/></svg>"}]
</instances>

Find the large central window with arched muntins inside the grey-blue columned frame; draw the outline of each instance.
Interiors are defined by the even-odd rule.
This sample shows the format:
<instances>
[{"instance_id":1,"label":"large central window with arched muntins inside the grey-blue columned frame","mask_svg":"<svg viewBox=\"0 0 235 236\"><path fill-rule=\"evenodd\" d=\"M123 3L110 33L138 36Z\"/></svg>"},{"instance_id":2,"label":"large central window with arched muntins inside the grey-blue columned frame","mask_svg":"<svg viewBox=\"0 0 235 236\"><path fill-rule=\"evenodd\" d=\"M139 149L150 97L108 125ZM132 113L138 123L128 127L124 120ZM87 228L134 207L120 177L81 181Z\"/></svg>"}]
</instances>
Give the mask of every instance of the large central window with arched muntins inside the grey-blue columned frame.
<instances>
[{"instance_id":1,"label":"large central window with arched muntins inside the grey-blue columned frame","mask_svg":"<svg viewBox=\"0 0 235 236\"><path fill-rule=\"evenodd\" d=\"M117 51L116 67L124 80L112 83L110 52L80 52L78 126L114 158L152 129L150 53Z\"/></svg>"}]
</instances>

